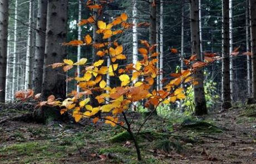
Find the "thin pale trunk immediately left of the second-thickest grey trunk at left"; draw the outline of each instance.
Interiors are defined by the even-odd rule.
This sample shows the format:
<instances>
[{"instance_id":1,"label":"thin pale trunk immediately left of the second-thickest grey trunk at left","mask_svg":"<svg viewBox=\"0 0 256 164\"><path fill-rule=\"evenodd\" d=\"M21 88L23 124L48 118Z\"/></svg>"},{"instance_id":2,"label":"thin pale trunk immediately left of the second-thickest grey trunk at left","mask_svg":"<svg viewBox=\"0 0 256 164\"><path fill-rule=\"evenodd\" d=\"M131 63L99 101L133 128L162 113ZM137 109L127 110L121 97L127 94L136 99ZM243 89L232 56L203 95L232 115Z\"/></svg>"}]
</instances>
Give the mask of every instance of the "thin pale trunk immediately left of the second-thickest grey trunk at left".
<instances>
[{"instance_id":1,"label":"thin pale trunk immediately left of the second-thickest grey trunk at left","mask_svg":"<svg viewBox=\"0 0 256 164\"><path fill-rule=\"evenodd\" d=\"M26 54L26 66L25 66L25 84L24 89L32 88L32 59L33 59L33 27L34 27L34 9L35 0L29 1L29 22L28 22L28 40L27 40L27 54Z\"/></svg>"}]
</instances>

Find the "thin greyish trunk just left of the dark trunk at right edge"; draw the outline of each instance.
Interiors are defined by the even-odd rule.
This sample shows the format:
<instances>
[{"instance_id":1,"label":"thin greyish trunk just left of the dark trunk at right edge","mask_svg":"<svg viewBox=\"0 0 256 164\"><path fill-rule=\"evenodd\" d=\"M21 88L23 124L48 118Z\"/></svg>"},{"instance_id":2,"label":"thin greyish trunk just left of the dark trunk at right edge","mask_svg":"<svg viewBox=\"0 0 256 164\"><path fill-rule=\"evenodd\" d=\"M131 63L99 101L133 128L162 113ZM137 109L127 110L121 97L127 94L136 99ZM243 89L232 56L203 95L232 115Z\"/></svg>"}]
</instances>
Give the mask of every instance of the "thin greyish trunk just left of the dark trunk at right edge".
<instances>
[{"instance_id":1,"label":"thin greyish trunk just left of the dark trunk at right edge","mask_svg":"<svg viewBox=\"0 0 256 164\"><path fill-rule=\"evenodd\" d=\"M249 0L246 1L246 50L247 52L250 52L250 23L249 23ZM251 66L251 57L247 55L247 92L248 92L248 97L252 97L252 79L251 79L251 74L252 74L252 69L250 69Z\"/></svg>"}]
</instances>

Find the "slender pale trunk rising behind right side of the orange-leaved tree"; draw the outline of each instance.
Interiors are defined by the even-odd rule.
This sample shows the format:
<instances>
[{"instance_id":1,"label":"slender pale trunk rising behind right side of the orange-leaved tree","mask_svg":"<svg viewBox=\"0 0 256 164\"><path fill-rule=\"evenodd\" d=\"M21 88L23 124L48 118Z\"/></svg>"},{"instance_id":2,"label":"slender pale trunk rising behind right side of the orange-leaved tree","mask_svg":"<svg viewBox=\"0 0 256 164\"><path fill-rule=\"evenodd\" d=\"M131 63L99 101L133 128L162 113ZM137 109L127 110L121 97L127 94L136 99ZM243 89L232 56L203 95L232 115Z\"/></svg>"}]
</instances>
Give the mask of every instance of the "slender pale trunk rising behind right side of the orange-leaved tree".
<instances>
[{"instance_id":1,"label":"slender pale trunk rising behind right side of the orange-leaved tree","mask_svg":"<svg viewBox=\"0 0 256 164\"><path fill-rule=\"evenodd\" d=\"M159 76L159 86L160 90L163 90L163 67L164 67L164 1L160 1L160 76Z\"/></svg>"}]
</instances>

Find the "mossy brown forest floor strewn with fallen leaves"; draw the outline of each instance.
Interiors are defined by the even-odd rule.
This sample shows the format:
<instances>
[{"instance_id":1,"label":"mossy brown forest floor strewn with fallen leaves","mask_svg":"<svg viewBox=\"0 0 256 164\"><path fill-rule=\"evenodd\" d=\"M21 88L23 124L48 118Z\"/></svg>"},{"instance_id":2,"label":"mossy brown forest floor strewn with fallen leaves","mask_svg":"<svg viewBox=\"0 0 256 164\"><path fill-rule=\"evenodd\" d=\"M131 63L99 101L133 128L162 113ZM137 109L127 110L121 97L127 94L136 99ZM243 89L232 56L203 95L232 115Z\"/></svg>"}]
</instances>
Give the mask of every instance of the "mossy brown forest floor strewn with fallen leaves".
<instances>
[{"instance_id":1,"label":"mossy brown forest floor strewn with fallen leaves","mask_svg":"<svg viewBox=\"0 0 256 164\"><path fill-rule=\"evenodd\" d=\"M0 110L0 120L21 112ZM254 116L238 107L200 119L150 120L139 136L142 163L256 163ZM137 163L134 145L121 128L83 123L4 122L0 163Z\"/></svg>"}]
</instances>

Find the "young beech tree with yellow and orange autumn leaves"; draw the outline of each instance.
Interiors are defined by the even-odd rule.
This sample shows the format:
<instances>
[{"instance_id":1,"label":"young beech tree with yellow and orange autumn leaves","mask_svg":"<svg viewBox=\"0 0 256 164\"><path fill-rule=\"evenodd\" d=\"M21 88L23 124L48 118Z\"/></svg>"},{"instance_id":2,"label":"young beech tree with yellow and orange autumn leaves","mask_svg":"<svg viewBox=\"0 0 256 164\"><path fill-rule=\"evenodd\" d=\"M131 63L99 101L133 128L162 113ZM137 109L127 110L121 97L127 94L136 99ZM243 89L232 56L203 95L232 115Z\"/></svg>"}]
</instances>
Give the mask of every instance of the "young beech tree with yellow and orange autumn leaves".
<instances>
[{"instance_id":1,"label":"young beech tree with yellow and orange autumn leaves","mask_svg":"<svg viewBox=\"0 0 256 164\"><path fill-rule=\"evenodd\" d=\"M88 2L88 8L97 9L98 11L102 10L101 4ZM104 21L96 21L97 19L94 16L82 19L79 23L80 26L87 23L97 26L96 33L101 36L101 41L92 41L92 37L86 34L82 40L73 40L63 44L70 46L93 46L97 51L93 55L102 58L92 64L88 64L86 58L81 58L77 62L64 59L62 63L53 63L53 68L58 69L59 67L63 67L63 71L68 71L74 66L81 67L83 76L74 78L81 92L72 91L68 94L68 98L63 101L56 99L59 97L55 98L54 95L51 95L47 101L40 102L39 106L60 106L61 114L65 112L70 113L76 122L80 121L81 118L91 118L93 123L105 121L106 124L110 124L111 126L117 125L124 128L134 141L137 159L141 160L140 147L136 138L146 121L156 111L157 106L161 103L175 103L185 98L184 89L180 88L181 83L192 83L196 85L197 82L191 76L193 72L214 62L217 57L209 54L208 58L210 62L196 62L196 55L190 59L185 59L184 62L188 66L188 69L184 69L179 73L172 73L172 78L163 87L163 90L156 91L153 89L153 85L159 73L159 68L156 67L158 53L155 52L155 44L150 45L147 41L141 40L140 43L143 47L138 49L139 54L142 56L141 60L138 60L136 63L127 63L125 67L119 66L118 64L120 60L126 59L119 38L126 29L131 29L134 26L132 23L127 22L127 19L126 13L122 13L108 24ZM111 64L109 67L104 66L104 62L107 60L107 58L103 58L104 56L110 57ZM119 79L120 85L114 87L107 86L106 81L102 78L106 74ZM145 80L142 81L141 79ZM98 93L99 95L97 95ZM97 106L95 106L95 103L88 96L97 100ZM26 100L28 97L38 98L38 95L33 96L33 92L28 91L17 92L16 97ZM135 120L130 118L131 115L127 115L127 111L130 107L134 106L134 109L136 109L137 102L141 102L142 100L145 102L145 107L154 108L139 128L136 128L133 125ZM101 115L97 115L99 112L101 112Z\"/></svg>"}]
</instances>

